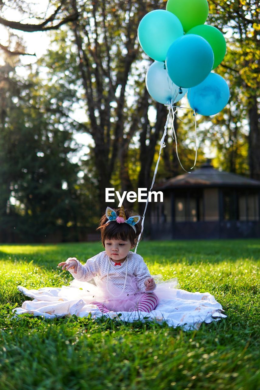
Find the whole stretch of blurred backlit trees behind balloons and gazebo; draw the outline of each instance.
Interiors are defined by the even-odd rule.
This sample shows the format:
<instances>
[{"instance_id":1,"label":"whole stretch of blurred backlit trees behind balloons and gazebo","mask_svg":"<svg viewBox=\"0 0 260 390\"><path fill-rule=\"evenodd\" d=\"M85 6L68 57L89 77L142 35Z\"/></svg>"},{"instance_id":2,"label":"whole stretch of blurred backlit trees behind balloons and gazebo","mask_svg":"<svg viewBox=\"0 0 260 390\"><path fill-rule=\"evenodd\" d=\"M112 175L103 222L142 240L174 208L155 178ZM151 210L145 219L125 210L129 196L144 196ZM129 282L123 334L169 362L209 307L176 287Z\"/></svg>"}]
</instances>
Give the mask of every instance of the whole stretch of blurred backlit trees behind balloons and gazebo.
<instances>
[{"instance_id":1,"label":"whole stretch of blurred backlit trees behind balloons and gazebo","mask_svg":"<svg viewBox=\"0 0 260 390\"><path fill-rule=\"evenodd\" d=\"M29 3L8 3L21 14L17 22L0 18L9 32L0 42L0 238L78 240L104 213L105 188L150 188L168 110L146 90L152 60L139 47L137 27L166 2L53 0L43 13ZM0 9L5 15L4 2ZM260 179L259 10L253 0L210 0L209 12L227 41L216 72L228 80L230 101L213 117L198 116L197 165L211 155L215 167ZM26 67L19 30L50 30L47 53ZM178 116L178 151L188 170L194 124L189 110ZM169 133L156 181L181 173ZM144 204L138 207L142 213Z\"/></svg>"}]
</instances>

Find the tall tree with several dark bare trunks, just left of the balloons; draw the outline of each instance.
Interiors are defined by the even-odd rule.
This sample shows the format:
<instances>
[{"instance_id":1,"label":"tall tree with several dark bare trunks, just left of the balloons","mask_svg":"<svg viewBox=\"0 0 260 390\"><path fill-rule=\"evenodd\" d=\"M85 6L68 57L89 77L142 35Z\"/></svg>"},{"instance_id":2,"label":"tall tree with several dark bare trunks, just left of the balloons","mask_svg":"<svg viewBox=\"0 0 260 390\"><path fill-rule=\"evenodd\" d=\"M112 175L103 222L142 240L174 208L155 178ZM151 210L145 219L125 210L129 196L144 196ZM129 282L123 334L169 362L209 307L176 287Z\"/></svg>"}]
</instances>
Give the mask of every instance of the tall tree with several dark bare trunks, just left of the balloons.
<instances>
[{"instance_id":1,"label":"tall tree with several dark bare trunks, just left of the balloons","mask_svg":"<svg viewBox=\"0 0 260 390\"><path fill-rule=\"evenodd\" d=\"M80 17L73 22L73 30L104 210L105 188L111 187L117 163L121 191L133 188L129 174L131 148L137 148L135 156L140 162L138 186L149 188L151 184L151 167L167 108L155 104L145 88L151 60L140 48L137 28L147 12L164 4L95 0L91 5L78 2L78 7ZM156 108L155 123L149 120L151 105ZM143 205L139 207L141 212Z\"/></svg>"}]
</instances>

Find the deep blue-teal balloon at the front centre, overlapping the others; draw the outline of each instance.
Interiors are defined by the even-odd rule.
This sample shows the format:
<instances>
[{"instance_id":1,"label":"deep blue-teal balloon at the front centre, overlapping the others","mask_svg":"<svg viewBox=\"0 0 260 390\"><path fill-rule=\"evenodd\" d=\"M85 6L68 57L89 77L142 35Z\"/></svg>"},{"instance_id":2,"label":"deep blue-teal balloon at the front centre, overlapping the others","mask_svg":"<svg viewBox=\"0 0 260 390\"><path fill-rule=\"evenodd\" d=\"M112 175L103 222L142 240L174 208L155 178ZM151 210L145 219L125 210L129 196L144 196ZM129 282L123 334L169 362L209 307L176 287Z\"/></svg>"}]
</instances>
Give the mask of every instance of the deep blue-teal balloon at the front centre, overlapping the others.
<instances>
[{"instance_id":1,"label":"deep blue-teal balloon at the front centre, overlapping the others","mask_svg":"<svg viewBox=\"0 0 260 390\"><path fill-rule=\"evenodd\" d=\"M176 39L169 47L166 68L174 84L191 88L205 80L213 62L213 50L206 39L188 34Z\"/></svg>"}]
</instances>

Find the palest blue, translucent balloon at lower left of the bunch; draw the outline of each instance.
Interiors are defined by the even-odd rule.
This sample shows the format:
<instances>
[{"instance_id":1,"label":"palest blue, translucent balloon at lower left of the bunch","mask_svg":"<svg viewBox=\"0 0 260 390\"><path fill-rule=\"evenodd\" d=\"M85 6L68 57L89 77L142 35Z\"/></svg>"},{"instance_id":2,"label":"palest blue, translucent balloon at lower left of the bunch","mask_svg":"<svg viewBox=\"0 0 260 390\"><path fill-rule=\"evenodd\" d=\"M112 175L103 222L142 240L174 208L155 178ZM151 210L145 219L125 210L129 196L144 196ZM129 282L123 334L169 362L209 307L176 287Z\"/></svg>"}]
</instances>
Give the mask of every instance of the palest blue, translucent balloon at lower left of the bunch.
<instances>
[{"instance_id":1,"label":"palest blue, translucent balloon at lower left of the bunch","mask_svg":"<svg viewBox=\"0 0 260 390\"><path fill-rule=\"evenodd\" d=\"M172 99L172 103L176 103L187 92L187 89L183 88L182 93L179 93L179 87L170 79L163 62L155 61L151 64L145 83L151 97L162 104L170 104Z\"/></svg>"}]
</instances>

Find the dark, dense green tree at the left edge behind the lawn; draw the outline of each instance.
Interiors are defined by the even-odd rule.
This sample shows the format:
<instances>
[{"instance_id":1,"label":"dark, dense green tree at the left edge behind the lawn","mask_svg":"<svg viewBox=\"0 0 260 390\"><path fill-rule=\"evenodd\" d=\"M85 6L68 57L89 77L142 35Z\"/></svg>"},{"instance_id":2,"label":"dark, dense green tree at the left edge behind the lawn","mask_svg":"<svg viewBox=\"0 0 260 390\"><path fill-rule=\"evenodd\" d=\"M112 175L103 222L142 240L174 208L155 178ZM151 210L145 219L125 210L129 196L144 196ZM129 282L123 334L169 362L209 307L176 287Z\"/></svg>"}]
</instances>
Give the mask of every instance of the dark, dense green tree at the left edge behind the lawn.
<instances>
[{"instance_id":1,"label":"dark, dense green tree at the left edge behind the lawn","mask_svg":"<svg viewBox=\"0 0 260 390\"><path fill-rule=\"evenodd\" d=\"M10 65L0 68L0 80L1 226L7 236L16 229L27 241L57 230L66 239L81 215L80 167L69 160L79 125L60 104L65 97L56 85L43 85L35 75L21 80Z\"/></svg>"}]
</instances>

